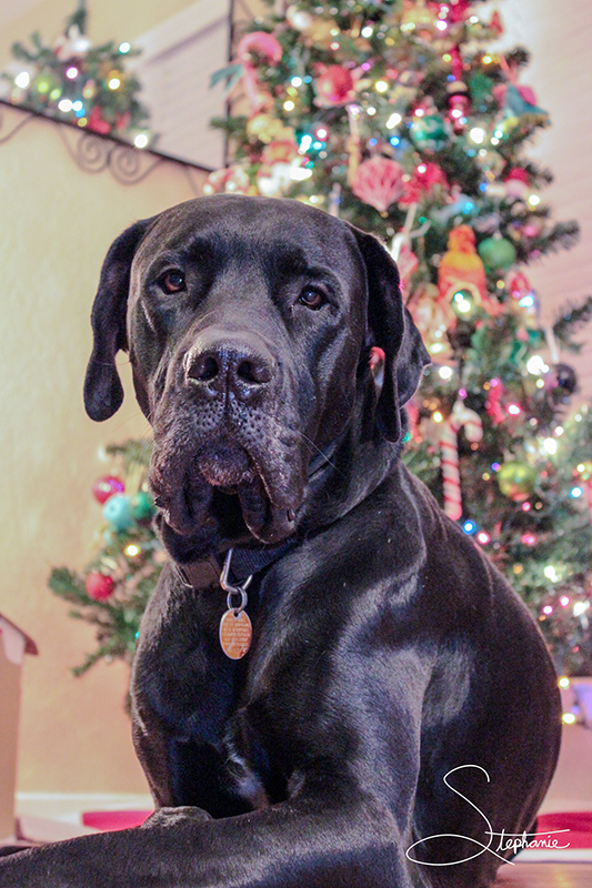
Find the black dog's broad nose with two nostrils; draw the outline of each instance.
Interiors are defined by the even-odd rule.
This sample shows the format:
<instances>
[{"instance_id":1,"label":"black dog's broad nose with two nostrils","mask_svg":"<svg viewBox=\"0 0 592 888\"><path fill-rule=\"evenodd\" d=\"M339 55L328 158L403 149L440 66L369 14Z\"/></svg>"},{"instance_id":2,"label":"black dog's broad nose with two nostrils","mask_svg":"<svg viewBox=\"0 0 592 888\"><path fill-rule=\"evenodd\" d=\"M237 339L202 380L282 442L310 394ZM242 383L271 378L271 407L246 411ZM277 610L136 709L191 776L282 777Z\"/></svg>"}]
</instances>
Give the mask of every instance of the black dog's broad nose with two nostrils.
<instances>
[{"instance_id":1,"label":"black dog's broad nose with two nostrils","mask_svg":"<svg viewBox=\"0 0 592 888\"><path fill-rule=\"evenodd\" d=\"M210 327L199 334L184 360L185 383L242 400L259 392L275 376L277 363L264 344L251 333Z\"/></svg>"}]
</instances>

